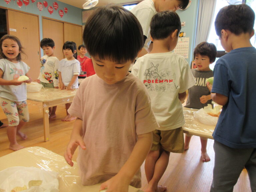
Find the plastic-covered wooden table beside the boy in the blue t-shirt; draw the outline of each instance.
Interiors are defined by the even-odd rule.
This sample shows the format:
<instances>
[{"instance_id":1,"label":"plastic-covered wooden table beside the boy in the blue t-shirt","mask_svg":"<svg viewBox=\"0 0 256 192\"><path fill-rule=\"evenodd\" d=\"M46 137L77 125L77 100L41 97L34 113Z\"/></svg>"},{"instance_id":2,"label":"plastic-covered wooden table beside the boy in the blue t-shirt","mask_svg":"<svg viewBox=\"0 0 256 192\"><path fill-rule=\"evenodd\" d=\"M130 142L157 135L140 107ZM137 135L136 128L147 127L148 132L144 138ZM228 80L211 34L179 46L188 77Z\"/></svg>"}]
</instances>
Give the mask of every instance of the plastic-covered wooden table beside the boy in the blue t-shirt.
<instances>
[{"instance_id":1,"label":"plastic-covered wooden table beside the boy in the blue t-shirt","mask_svg":"<svg viewBox=\"0 0 256 192\"><path fill-rule=\"evenodd\" d=\"M213 139L212 133L215 129L215 126L205 125L200 121L194 119L194 111L197 111L197 109L183 107L183 114L186 122L185 125L182 126L183 132L191 135L197 135L200 137Z\"/></svg>"}]
</instances>

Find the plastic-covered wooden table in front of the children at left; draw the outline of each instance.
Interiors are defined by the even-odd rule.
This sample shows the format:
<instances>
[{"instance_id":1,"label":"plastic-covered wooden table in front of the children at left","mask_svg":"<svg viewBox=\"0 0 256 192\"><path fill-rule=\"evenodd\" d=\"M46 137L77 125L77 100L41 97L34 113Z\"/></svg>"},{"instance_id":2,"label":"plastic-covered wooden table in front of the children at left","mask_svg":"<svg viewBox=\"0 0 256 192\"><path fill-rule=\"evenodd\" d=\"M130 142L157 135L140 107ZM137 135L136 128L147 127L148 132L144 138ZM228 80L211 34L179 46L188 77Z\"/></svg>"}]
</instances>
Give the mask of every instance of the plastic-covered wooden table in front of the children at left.
<instances>
[{"instance_id":1,"label":"plastic-covered wooden table in front of the children at left","mask_svg":"<svg viewBox=\"0 0 256 192\"><path fill-rule=\"evenodd\" d=\"M42 88L39 92L28 92L27 100L41 102L43 107L44 141L49 141L49 107L71 103L76 91L60 90L55 88Z\"/></svg>"}]
</instances>

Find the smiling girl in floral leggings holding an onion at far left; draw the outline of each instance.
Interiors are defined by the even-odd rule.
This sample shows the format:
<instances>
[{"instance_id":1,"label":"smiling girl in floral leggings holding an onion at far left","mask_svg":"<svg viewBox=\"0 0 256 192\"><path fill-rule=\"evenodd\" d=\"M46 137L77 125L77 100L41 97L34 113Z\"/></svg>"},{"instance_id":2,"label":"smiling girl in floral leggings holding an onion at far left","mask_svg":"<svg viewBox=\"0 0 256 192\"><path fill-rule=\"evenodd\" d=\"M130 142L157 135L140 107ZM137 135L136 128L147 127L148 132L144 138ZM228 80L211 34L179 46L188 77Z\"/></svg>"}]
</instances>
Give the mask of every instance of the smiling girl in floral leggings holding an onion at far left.
<instances>
[{"instance_id":1,"label":"smiling girl in floral leggings holding an onion at far left","mask_svg":"<svg viewBox=\"0 0 256 192\"><path fill-rule=\"evenodd\" d=\"M20 40L14 35L4 35L0 39L0 57L3 58L0 59L0 103L9 122L9 148L14 151L24 148L18 144L16 135L27 138L20 129L29 121L25 83L30 83L32 79L28 75L29 66L21 61L22 48ZM19 81L22 75L29 79Z\"/></svg>"}]
</instances>

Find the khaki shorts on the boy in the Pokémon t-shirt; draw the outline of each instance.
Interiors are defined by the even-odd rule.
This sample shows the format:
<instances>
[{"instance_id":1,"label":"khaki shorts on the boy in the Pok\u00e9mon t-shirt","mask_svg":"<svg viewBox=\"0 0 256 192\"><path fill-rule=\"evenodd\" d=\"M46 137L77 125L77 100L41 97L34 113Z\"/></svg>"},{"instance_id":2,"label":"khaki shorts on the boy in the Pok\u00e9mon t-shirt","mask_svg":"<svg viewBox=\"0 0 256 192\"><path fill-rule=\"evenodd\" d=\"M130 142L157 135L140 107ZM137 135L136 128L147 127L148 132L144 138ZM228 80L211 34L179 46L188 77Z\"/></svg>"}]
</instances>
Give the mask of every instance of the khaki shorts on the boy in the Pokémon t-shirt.
<instances>
[{"instance_id":1,"label":"khaki shorts on the boy in the Pok\u00e9mon t-shirt","mask_svg":"<svg viewBox=\"0 0 256 192\"><path fill-rule=\"evenodd\" d=\"M184 134L182 127L168 131L154 130L151 151L160 148L172 153L184 152Z\"/></svg>"}]
</instances>

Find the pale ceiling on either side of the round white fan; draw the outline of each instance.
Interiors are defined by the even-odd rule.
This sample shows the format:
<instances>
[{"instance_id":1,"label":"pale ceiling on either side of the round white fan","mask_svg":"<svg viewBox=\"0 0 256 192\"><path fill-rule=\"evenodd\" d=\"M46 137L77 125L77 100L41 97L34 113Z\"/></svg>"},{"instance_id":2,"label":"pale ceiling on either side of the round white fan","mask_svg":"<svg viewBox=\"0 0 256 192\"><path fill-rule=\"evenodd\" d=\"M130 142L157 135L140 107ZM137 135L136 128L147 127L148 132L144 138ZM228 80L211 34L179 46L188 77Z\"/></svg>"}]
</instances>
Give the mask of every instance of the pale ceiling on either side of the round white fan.
<instances>
[{"instance_id":1,"label":"pale ceiling on either side of the round white fan","mask_svg":"<svg viewBox=\"0 0 256 192\"><path fill-rule=\"evenodd\" d=\"M86 0L58 0L60 2L78 7L83 9L83 4ZM98 4L95 7L101 7L107 4L127 4L127 3L136 3L139 0L99 0ZM141 0L140 0L141 1Z\"/></svg>"}]
</instances>

